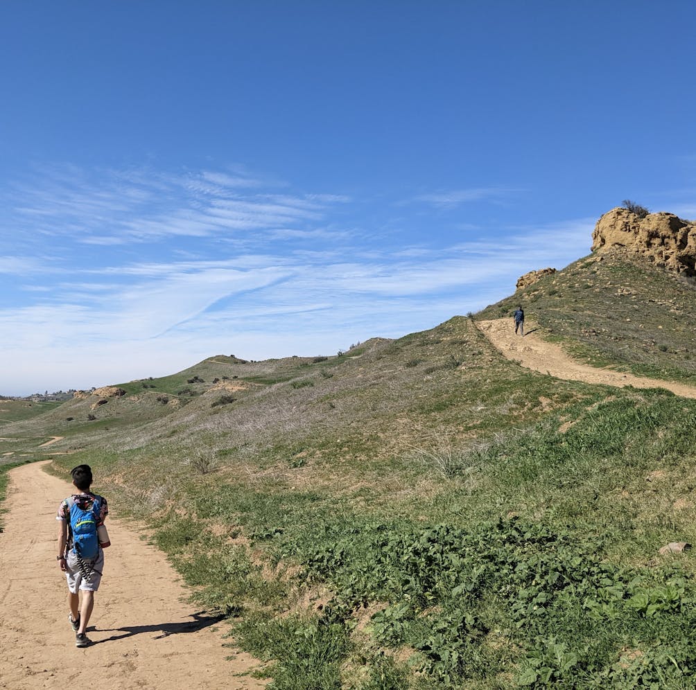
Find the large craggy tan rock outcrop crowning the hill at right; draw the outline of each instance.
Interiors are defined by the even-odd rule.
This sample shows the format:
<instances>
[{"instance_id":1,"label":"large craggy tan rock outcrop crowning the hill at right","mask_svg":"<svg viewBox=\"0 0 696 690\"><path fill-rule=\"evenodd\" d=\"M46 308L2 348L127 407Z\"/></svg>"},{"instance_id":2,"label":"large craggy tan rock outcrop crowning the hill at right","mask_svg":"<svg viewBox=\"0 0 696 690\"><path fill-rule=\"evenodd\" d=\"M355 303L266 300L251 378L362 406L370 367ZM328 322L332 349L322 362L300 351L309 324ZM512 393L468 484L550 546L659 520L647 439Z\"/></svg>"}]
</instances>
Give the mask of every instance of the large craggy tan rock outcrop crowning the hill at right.
<instances>
[{"instance_id":1,"label":"large craggy tan rock outcrop crowning the hill at right","mask_svg":"<svg viewBox=\"0 0 696 690\"><path fill-rule=\"evenodd\" d=\"M617 208L604 214L592 232L592 251L624 250L657 266L696 275L696 223L668 213L639 216Z\"/></svg>"}]
</instances>

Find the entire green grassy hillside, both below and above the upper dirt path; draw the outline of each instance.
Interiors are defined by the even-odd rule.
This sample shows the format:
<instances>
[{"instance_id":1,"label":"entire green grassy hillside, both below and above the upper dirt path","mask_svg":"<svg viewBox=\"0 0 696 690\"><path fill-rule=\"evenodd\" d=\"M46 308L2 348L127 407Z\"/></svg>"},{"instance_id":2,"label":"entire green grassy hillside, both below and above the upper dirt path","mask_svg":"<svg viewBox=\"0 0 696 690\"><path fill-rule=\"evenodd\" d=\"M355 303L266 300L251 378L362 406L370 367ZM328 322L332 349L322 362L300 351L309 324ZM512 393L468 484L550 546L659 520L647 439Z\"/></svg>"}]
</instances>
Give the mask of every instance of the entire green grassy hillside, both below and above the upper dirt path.
<instances>
[{"instance_id":1,"label":"entire green grassy hillside, both below and above the upper dirt path","mask_svg":"<svg viewBox=\"0 0 696 690\"><path fill-rule=\"evenodd\" d=\"M521 301L590 362L693 380L693 297L590 257L473 319L340 357L219 355L0 435L149 516L271 687L686 688L695 561L658 549L696 539L696 401L522 369L474 320Z\"/></svg>"}]
</instances>

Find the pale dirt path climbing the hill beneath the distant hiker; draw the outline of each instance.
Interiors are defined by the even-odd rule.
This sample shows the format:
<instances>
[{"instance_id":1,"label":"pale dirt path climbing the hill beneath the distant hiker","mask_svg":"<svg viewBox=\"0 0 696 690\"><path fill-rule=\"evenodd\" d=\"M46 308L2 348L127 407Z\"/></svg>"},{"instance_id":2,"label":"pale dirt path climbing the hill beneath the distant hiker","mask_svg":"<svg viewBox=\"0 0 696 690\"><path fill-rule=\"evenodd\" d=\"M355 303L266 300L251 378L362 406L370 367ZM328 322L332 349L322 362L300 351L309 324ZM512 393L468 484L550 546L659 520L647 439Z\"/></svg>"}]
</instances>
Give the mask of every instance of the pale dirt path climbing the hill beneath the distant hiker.
<instances>
[{"instance_id":1,"label":"pale dirt path climbing the hill beneath the distant hiker","mask_svg":"<svg viewBox=\"0 0 696 690\"><path fill-rule=\"evenodd\" d=\"M476 326L509 360L520 362L523 367L541 371L542 374L617 387L630 385L635 388L666 388L684 398L696 398L696 387L684 383L642 378L611 369L597 369L590 367L589 364L580 364L571 359L560 346L546 342L536 335L533 332L534 326L531 324L530 330L524 337L515 335L512 319L477 321Z\"/></svg>"}]
</instances>

